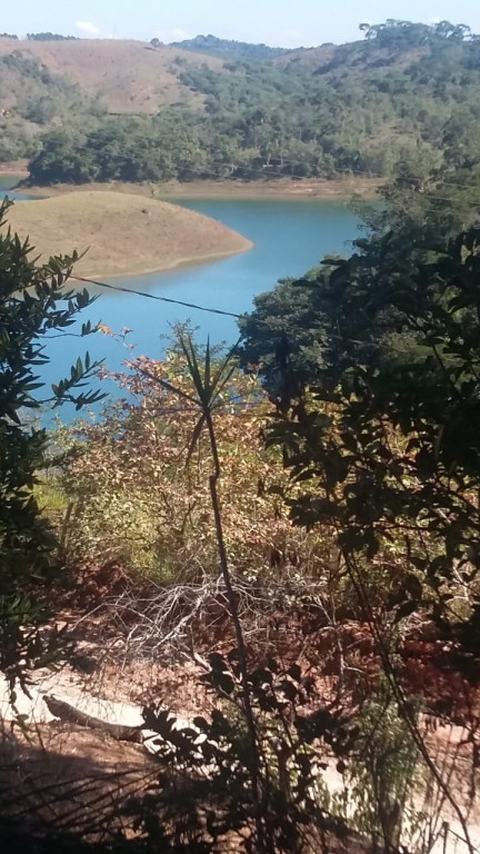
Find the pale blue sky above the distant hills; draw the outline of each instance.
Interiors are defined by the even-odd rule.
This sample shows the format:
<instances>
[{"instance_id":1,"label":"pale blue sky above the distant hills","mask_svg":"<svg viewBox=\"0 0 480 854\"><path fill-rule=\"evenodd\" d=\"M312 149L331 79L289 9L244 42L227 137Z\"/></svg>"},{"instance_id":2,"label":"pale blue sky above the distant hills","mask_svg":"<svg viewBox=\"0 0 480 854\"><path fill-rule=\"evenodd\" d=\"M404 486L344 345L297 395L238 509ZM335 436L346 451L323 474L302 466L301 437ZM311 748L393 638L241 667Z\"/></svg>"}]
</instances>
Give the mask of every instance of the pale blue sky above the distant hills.
<instances>
[{"instance_id":1,"label":"pale blue sky above the distant hills","mask_svg":"<svg viewBox=\"0 0 480 854\"><path fill-rule=\"evenodd\" d=\"M3 3L2 3L3 6ZM480 32L479 0L12 0L0 30L181 40L199 32L294 47L358 37L361 21L447 19Z\"/></svg>"}]
</instances>

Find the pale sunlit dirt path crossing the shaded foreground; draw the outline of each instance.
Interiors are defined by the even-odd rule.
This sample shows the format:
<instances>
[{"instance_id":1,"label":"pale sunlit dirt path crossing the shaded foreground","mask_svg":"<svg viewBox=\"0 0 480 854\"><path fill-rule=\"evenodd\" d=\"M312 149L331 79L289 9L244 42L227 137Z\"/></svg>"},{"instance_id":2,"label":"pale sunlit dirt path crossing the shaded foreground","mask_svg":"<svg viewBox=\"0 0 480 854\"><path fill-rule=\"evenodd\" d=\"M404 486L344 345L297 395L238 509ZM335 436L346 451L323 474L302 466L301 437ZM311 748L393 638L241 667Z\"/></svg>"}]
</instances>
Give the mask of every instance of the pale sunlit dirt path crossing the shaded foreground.
<instances>
[{"instance_id":1,"label":"pale sunlit dirt path crossing the shaded foreground","mask_svg":"<svg viewBox=\"0 0 480 854\"><path fill-rule=\"evenodd\" d=\"M184 682L186 676L191 678L192 673L190 671L183 675L177 673L180 683ZM71 762L72 756L74 756L78 764L79 761L91 761L92 755L94 755L97 772L99 768L103 768L104 773L113 765L116 769L120 767L127 769L132 763L133 767L144 769L146 763L149 763L149 754L154 754L158 749L158 736L144 728L142 705L119 701L113 683L104 683L102 689L99 689L99 686L94 686L94 684L83 683L78 674L66 667L56 674L39 672L29 693L30 697L21 691L18 692L18 712L26 715L28 723L36 725L37 732L40 727L43 745L52 743L53 746L54 744L57 762L62 757L63 761L68 761L70 757ZM57 704L49 703L48 698L52 696L60 702ZM167 703L164 707L168 708L169 704ZM191 726L192 717L192 709L180 715L177 727L181 729ZM2 722L9 722L13 718L14 712L9 703L7 681L0 675L0 729ZM87 718L91 719L87 721ZM140 737L133 739L129 737L129 734L118 737L114 732L118 728L138 731ZM61 737L62 734L63 737ZM32 736L34 736L33 729ZM441 745L454 749L457 744L461 744L464 732L460 727L440 727L436 733L430 734L429 739L432 738L434 743L430 747L438 756ZM132 742L137 742L138 745L134 749ZM49 751L47 751L46 759L50 761ZM331 795L340 794L346 786L343 775L337 771L336 766L337 761L332 758L327 761L322 771L322 784L327 786ZM44 773L44 767L39 766L37 773L40 771ZM66 774L68 778L68 768ZM463 791L466 777L464 774L462 776L461 769L453 775L450 784L453 786L458 803L462 804L462 810L466 813L469 813L470 842L476 850L480 850L480 812L476 804L473 804L473 808L468 808L468 797ZM414 812L420 815L422 811L426 811L426 814L430 813L429 801L423 800L422 793L419 792L414 803ZM409 817L407 816L406 844L411 843L408 823ZM417 838L418 830L413 831L412 834L417 844L420 842ZM441 807L433 831L429 854L468 854L462 827L448 804L443 804ZM423 850L426 848L422 847Z\"/></svg>"}]
</instances>

